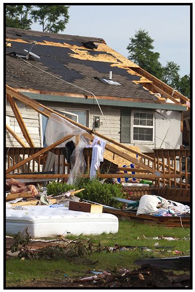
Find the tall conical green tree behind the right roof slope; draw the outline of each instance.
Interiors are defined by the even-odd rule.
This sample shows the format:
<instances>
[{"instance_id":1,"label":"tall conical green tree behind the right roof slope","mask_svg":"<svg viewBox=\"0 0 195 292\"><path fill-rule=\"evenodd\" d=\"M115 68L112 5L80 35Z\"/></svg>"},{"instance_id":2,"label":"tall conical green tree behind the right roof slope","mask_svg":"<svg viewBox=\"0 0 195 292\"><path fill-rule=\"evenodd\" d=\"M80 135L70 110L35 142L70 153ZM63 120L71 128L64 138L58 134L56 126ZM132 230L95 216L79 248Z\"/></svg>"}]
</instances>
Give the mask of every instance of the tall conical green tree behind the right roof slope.
<instances>
[{"instance_id":1,"label":"tall conical green tree behind the right roof slope","mask_svg":"<svg viewBox=\"0 0 195 292\"><path fill-rule=\"evenodd\" d=\"M158 60L160 54L153 51L153 42L154 39L149 36L147 31L139 29L135 36L130 38L127 46L128 58L160 79L162 76L162 65Z\"/></svg>"}]
</instances>

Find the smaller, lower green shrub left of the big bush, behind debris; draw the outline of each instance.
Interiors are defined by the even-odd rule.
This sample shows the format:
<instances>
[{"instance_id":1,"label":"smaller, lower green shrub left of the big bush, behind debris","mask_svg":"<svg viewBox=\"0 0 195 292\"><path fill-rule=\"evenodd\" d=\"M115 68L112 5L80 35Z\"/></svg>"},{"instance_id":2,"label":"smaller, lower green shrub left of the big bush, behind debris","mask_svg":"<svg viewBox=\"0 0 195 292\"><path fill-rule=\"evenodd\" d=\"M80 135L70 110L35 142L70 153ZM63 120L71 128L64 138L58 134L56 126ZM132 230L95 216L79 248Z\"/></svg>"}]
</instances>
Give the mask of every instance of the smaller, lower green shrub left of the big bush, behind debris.
<instances>
[{"instance_id":1,"label":"smaller, lower green shrub left of the big bush, behind debris","mask_svg":"<svg viewBox=\"0 0 195 292\"><path fill-rule=\"evenodd\" d=\"M59 196L67 191L70 191L72 189L78 189L73 184L68 183L58 183L53 181L52 183L47 184L47 195L54 195L54 197Z\"/></svg>"}]
</instances>

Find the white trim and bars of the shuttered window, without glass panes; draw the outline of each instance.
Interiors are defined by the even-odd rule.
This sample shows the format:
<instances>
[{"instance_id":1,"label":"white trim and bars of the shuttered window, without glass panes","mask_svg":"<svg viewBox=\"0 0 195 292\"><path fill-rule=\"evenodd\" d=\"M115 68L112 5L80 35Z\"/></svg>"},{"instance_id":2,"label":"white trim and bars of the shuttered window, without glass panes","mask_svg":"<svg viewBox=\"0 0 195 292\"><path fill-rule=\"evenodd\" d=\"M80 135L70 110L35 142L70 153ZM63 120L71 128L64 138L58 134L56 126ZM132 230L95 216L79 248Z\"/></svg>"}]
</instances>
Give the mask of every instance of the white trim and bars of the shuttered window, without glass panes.
<instances>
[{"instance_id":1,"label":"white trim and bars of the shuttered window, without glass panes","mask_svg":"<svg viewBox=\"0 0 195 292\"><path fill-rule=\"evenodd\" d=\"M153 114L153 126L140 126L134 125L134 112L143 112L143 113L152 113ZM134 140L134 127L136 128L153 128L153 141L146 140ZM155 138L155 114L153 111L144 111L144 110L132 110L131 112L131 143L139 143L139 144L154 144Z\"/></svg>"}]
</instances>

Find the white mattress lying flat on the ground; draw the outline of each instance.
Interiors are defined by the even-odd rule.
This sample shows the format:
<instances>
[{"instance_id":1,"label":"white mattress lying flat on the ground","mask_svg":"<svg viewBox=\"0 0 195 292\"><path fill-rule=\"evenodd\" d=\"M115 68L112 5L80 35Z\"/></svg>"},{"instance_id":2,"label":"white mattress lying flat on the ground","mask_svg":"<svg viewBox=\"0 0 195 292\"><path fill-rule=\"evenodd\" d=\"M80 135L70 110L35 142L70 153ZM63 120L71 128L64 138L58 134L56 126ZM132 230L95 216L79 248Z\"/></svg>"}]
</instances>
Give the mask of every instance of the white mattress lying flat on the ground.
<instances>
[{"instance_id":1,"label":"white mattress lying flat on the ground","mask_svg":"<svg viewBox=\"0 0 195 292\"><path fill-rule=\"evenodd\" d=\"M17 234L28 227L31 237L57 235L97 235L117 233L118 219L107 213L86 213L68 208L25 206L25 210L6 209L6 233Z\"/></svg>"}]
</instances>

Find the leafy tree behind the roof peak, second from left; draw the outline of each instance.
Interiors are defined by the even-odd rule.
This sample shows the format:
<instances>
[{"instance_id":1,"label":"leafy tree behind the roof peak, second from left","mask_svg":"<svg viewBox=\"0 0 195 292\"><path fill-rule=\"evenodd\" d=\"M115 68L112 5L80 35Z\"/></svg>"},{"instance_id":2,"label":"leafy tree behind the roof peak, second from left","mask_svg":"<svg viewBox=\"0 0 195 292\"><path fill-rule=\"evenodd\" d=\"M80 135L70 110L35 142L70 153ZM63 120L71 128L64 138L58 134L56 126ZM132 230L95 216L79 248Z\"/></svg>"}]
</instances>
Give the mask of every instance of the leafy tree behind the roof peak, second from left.
<instances>
[{"instance_id":1,"label":"leafy tree behind the roof peak, second from left","mask_svg":"<svg viewBox=\"0 0 195 292\"><path fill-rule=\"evenodd\" d=\"M69 20L68 9L65 5L34 5L31 10L32 18L39 22L43 32L58 33L66 28Z\"/></svg>"}]
</instances>

